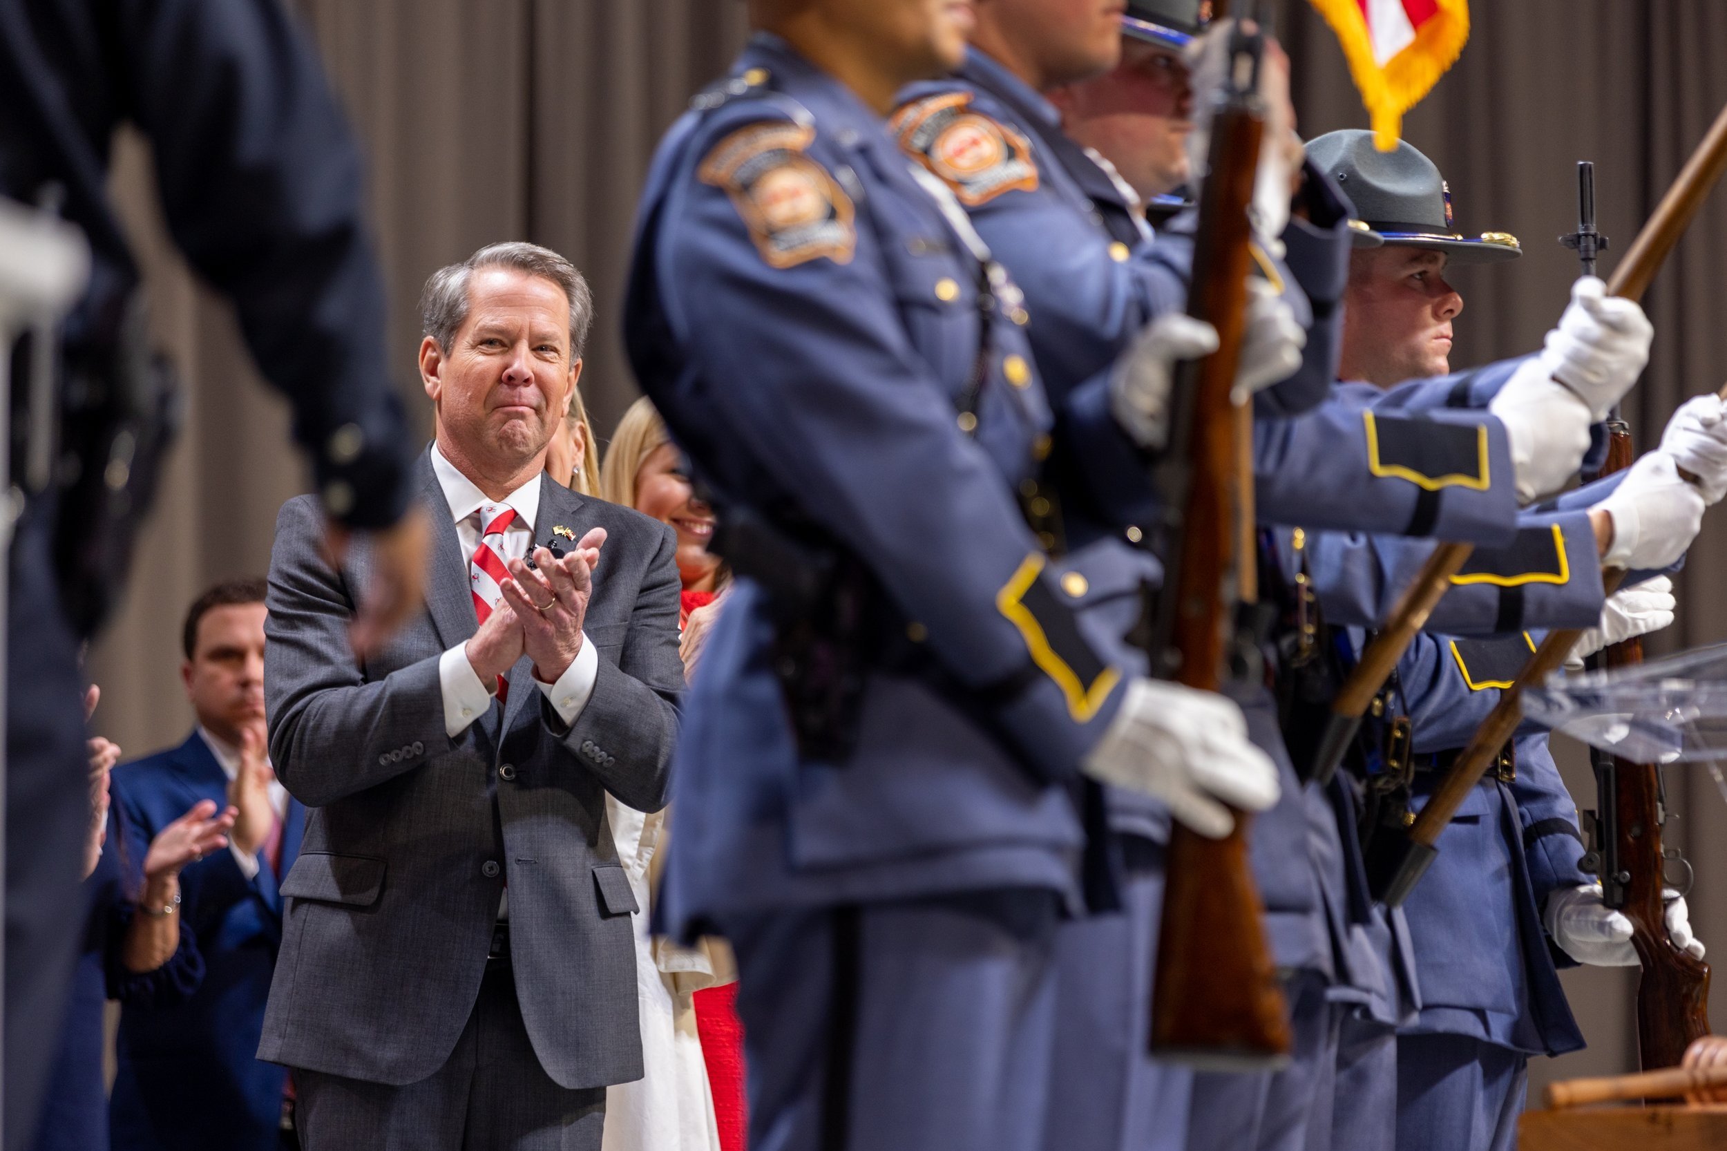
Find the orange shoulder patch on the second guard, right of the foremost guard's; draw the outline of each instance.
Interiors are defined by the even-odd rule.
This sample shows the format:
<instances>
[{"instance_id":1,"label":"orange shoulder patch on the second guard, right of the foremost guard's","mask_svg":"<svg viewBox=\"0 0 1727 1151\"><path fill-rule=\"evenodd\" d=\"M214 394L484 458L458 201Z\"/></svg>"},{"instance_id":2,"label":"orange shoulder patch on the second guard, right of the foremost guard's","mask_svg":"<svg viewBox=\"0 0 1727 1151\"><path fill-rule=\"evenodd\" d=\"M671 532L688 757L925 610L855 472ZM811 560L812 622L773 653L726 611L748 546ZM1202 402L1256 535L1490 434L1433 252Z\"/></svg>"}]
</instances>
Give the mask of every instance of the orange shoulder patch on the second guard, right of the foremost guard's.
<instances>
[{"instance_id":1,"label":"orange shoulder patch on the second guard, right of the foremost guard's","mask_svg":"<svg viewBox=\"0 0 1727 1151\"><path fill-rule=\"evenodd\" d=\"M976 111L965 92L907 104L895 112L889 126L900 147L953 188L967 207L988 204L1015 188L1038 188L1031 140Z\"/></svg>"}]
</instances>

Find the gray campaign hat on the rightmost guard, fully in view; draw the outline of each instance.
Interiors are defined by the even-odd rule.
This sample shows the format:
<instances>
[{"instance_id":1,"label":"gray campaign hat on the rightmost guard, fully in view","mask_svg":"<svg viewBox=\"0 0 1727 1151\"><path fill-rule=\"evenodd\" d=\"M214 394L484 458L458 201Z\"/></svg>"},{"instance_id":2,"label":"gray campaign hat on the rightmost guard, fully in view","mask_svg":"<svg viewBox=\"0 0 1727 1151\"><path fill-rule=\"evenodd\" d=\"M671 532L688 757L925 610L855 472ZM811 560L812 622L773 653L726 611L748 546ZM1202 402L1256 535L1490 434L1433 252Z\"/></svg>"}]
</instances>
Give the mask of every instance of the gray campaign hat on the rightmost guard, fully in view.
<instances>
[{"instance_id":1,"label":"gray campaign hat on the rightmost guard, fully in view","mask_svg":"<svg viewBox=\"0 0 1727 1151\"><path fill-rule=\"evenodd\" d=\"M1411 143L1390 152L1364 128L1328 131L1307 143L1307 161L1337 180L1356 214L1387 244L1430 247L1458 264L1516 259L1523 245L1509 232L1466 237L1452 230L1451 188L1439 168Z\"/></svg>"}]
</instances>

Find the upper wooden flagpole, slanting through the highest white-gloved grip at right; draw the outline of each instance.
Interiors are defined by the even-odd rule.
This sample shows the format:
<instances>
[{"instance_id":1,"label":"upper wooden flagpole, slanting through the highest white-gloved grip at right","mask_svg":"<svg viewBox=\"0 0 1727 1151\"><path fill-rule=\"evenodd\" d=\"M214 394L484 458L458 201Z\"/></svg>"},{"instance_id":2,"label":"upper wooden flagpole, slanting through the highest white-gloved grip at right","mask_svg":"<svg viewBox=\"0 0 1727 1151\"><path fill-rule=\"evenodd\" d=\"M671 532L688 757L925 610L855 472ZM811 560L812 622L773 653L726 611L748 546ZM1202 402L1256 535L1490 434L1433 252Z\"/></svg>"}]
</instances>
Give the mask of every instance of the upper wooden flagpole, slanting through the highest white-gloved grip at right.
<instances>
[{"instance_id":1,"label":"upper wooden flagpole, slanting through the highest white-gloved grip at right","mask_svg":"<svg viewBox=\"0 0 1727 1151\"><path fill-rule=\"evenodd\" d=\"M1661 263L1679 244L1679 237L1691 226L1703 200L1720 181L1724 169L1727 169L1727 107L1715 116L1703 143L1686 161L1654 214L1642 225L1630 251L1613 270L1613 278L1608 280L1608 296L1642 299L1654 273L1661 270ZM1349 741L1361 726L1368 703L1380 693L1387 676L1397 667L1402 653L1409 650L1414 634L1421 631L1433 605L1451 588L1451 577L1473 551L1475 544L1440 544L1416 576L1414 584L1404 591L1380 636L1361 653L1361 662L1351 671L1332 703L1332 719L1319 745L1319 755L1309 769L1313 778L1330 779L1332 773L1337 771ZM1497 752L1496 747L1494 754L1497 755Z\"/></svg>"}]
</instances>

